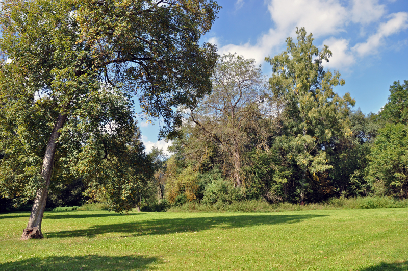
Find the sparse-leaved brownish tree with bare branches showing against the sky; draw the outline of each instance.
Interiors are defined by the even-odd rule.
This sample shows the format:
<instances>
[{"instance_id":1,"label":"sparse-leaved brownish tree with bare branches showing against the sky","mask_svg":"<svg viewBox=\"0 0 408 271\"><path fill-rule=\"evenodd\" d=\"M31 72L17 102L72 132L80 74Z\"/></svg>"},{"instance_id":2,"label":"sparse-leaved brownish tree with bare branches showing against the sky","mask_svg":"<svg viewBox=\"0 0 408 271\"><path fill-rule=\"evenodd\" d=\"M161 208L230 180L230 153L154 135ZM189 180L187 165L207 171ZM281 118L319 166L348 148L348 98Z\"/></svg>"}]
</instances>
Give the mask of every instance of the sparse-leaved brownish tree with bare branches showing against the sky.
<instances>
[{"instance_id":1,"label":"sparse-leaved brownish tree with bare branches showing against the sky","mask_svg":"<svg viewBox=\"0 0 408 271\"><path fill-rule=\"evenodd\" d=\"M242 152L250 143L248 132L257 130L258 120L272 114L263 76L253 59L228 54L217 61L212 81L213 92L188 107L188 120L227 155L234 167L234 183L241 186ZM261 139L262 135L258 136Z\"/></svg>"}]
</instances>

